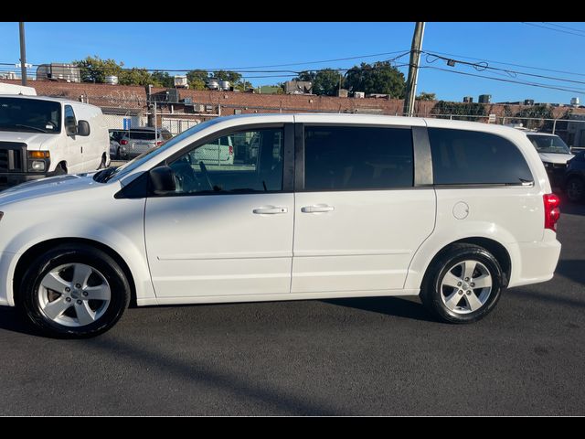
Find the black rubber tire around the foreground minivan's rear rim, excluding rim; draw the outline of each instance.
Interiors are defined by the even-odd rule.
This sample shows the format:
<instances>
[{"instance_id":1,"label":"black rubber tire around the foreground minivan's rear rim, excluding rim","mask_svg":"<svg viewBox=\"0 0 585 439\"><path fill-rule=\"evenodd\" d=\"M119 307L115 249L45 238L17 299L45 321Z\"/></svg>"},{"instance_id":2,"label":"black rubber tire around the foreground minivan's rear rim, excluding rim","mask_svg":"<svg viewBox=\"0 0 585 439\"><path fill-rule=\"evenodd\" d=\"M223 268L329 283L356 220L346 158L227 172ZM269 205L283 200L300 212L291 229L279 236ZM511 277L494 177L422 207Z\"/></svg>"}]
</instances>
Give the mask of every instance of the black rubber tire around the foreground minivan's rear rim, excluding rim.
<instances>
[{"instance_id":1,"label":"black rubber tire around the foreground minivan's rear rim, excluding rim","mask_svg":"<svg viewBox=\"0 0 585 439\"><path fill-rule=\"evenodd\" d=\"M477 261L484 264L485 268L492 276L492 292L485 304L478 310L469 314L456 314L452 312L441 300L441 282L444 275L453 267L453 265L463 261ZM450 323L472 323L488 315L497 304L502 291L502 269L495 257L478 246L469 246L454 249L447 252L431 268L434 276L430 276L430 281L425 288L426 297L423 302L431 308L442 320Z\"/></svg>"}]
</instances>

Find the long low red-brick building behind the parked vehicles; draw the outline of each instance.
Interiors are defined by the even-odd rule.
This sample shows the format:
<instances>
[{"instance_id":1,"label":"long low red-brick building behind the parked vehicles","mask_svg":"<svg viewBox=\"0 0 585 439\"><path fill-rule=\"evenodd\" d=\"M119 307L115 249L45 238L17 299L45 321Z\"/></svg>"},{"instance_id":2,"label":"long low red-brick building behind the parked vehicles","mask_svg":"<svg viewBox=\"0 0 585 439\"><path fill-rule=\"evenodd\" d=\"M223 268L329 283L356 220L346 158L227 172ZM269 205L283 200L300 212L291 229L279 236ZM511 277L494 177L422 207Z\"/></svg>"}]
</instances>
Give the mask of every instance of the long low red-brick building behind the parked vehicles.
<instances>
[{"instance_id":1,"label":"long low red-brick building behind the parked vehicles","mask_svg":"<svg viewBox=\"0 0 585 439\"><path fill-rule=\"evenodd\" d=\"M19 80L1 80L18 84ZM170 89L171 95L178 92L178 99L170 102L157 102L156 115L148 102L148 88L143 86L125 86L93 83L72 83L50 80L31 80L28 84L37 90L38 95L58 96L76 101L90 102L100 106L109 118L112 128L121 128L123 118L133 118L133 126L152 124L154 118L158 126L165 126L171 132L183 131L195 123L218 116L253 112L356 112L372 114L399 115L403 101L382 98L329 97L295 94L254 94L237 91L194 91ZM176 91L175 91L176 90ZM167 89L151 88L152 96L163 96ZM158 99L158 98L157 98ZM420 116L430 115L436 102L417 101L415 113ZM477 105L477 104L475 104ZM510 117L523 109L520 104L485 105L485 114L494 114L498 120ZM571 108L571 113L585 115L585 109ZM550 107L553 117L561 118L568 111L566 107ZM478 122L487 122L487 116L477 118ZM134 122L136 121L136 122Z\"/></svg>"}]
</instances>

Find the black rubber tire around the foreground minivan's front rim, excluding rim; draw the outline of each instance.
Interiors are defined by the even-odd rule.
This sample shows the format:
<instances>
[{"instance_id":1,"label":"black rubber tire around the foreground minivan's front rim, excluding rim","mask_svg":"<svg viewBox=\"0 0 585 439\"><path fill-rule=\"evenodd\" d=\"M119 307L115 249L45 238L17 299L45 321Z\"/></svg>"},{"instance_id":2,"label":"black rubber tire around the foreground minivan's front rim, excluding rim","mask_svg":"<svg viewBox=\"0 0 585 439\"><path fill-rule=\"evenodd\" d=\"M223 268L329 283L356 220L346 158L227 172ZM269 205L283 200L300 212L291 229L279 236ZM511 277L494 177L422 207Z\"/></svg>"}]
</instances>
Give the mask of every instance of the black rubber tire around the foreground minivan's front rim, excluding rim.
<instances>
[{"instance_id":1,"label":"black rubber tire around the foreground minivan's front rim, excluding rim","mask_svg":"<svg viewBox=\"0 0 585 439\"><path fill-rule=\"evenodd\" d=\"M44 316L38 303L37 288L50 270L66 263L85 263L98 270L108 281L111 301L97 321L85 327L66 327ZM23 276L17 305L41 331L53 337L93 337L112 327L130 302L130 285L120 266L106 253L86 246L64 246L37 258Z\"/></svg>"}]
</instances>

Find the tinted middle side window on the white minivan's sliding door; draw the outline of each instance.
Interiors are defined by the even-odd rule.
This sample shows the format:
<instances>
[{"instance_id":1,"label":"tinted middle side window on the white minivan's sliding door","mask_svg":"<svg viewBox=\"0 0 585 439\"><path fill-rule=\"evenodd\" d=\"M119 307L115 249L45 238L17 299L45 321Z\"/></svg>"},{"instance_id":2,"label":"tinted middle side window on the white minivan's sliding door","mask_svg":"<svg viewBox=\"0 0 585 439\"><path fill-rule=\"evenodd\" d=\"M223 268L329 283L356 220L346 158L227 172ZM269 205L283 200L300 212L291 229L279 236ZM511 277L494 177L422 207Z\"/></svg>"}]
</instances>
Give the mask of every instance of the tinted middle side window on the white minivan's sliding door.
<instances>
[{"instance_id":1,"label":"tinted middle side window on the white minivan's sliding door","mask_svg":"<svg viewBox=\"0 0 585 439\"><path fill-rule=\"evenodd\" d=\"M387 189L412 183L410 129L305 126L306 190Z\"/></svg>"}]
</instances>

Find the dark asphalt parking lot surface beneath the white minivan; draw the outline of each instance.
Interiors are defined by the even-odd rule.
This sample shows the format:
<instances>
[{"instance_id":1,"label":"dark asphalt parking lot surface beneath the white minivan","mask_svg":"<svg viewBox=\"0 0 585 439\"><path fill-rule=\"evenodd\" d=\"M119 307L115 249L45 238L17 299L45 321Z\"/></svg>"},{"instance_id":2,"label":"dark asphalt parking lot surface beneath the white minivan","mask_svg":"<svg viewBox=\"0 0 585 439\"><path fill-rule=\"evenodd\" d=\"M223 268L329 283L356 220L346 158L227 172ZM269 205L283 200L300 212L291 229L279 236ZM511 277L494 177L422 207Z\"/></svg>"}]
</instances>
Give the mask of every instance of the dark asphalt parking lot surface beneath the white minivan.
<instances>
[{"instance_id":1,"label":"dark asphalt parking lot surface beneath the white minivan","mask_svg":"<svg viewBox=\"0 0 585 439\"><path fill-rule=\"evenodd\" d=\"M555 278L473 325L336 299L134 308L58 340L0 307L0 415L585 415L584 230L564 206Z\"/></svg>"}]
</instances>

